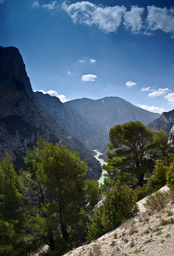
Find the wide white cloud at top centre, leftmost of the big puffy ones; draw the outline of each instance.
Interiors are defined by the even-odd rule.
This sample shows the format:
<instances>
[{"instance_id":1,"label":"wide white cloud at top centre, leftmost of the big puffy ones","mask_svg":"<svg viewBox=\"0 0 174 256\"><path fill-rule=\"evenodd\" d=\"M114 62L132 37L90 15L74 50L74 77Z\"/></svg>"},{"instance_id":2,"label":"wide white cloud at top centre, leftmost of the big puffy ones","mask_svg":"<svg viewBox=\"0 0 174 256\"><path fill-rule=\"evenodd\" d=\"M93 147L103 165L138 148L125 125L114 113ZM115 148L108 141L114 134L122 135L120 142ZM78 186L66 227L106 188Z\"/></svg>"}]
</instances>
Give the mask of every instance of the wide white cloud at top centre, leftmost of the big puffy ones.
<instances>
[{"instance_id":1,"label":"wide white cloud at top centre, leftmost of the big puffy ones","mask_svg":"<svg viewBox=\"0 0 174 256\"><path fill-rule=\"evenodd\" d=\"M77 2L67 5L62 4L63 10L71 17L73 23L95 25L104 32L115 32L119 27L123 14L126 13L124 6L98 6L88 1Z\"/></svg>"}]
</instances>

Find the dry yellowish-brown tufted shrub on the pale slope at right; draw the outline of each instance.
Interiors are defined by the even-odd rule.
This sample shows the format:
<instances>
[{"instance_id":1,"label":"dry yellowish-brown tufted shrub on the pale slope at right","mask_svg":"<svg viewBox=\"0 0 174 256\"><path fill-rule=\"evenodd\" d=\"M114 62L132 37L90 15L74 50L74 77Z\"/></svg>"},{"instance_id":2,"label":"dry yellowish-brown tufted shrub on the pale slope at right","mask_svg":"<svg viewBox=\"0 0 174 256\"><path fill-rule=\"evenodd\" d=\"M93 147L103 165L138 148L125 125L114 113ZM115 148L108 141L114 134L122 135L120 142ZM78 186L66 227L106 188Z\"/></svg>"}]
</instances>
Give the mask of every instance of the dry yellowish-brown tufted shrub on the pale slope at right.
<instances>
[{"instance_id":1,"label":"dry yellowish-brown tufted shrub on the pale slope at right","mask_svg":"<svg viewBox=\"0 0 174 256\"><path fill-rule=\"evenodd\" d=\"M170 197L167 192L162 193L161 191L157 191L155 194L153 194L147 198L144 206L147 209L150 209L153 211L154 210L159 211L166 206L166 204L169 202L169 200L170 200Z\"/></svg>"}]
</instances>

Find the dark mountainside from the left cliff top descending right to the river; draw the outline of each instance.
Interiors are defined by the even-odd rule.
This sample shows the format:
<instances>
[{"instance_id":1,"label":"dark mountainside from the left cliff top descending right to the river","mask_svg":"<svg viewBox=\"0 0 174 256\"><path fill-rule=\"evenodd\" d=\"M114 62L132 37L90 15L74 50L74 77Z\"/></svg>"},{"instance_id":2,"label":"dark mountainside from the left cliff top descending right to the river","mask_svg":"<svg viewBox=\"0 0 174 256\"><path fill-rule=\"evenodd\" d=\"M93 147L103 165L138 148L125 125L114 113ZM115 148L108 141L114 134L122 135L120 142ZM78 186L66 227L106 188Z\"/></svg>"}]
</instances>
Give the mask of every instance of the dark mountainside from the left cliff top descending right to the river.
<instances>
[{"instance_id":1,"label":"dark mountainside from the left cliff top descending right to the river","mask_svg":"<svg viewBox=\"0 0 174 256\"><path fill-rule=\"evenodd\" d=\"M58 98L51 100L58 102L57 108L62 107ZM0 47L0 114L0 156L2 159L6 152L11 152L16 170L26 168L23 156L27 148L36 146L40 135L49 142L67 145L79 152L80 159L88 162L88 177L100 178L102 168L92 152L35 96L22 57L15 47Z\"/></svg>"}]
</instances>

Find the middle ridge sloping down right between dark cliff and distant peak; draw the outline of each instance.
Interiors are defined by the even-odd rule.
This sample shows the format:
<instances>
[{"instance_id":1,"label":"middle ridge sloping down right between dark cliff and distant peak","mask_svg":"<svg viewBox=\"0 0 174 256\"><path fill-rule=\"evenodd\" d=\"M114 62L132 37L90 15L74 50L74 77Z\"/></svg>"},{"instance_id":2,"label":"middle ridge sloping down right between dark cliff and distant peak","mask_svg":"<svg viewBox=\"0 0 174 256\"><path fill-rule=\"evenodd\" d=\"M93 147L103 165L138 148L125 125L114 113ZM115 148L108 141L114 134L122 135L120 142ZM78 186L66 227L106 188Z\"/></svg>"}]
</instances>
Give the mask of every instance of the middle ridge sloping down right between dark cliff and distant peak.
<instances>
[{"instance_id":1,"label":"middle ridge sloping down right between dark cliff and distant peak","mask_svg":"<svg viewBox=\"0 0 174 256\"><path fill-rule=\"evenodd\" d=\"M108 143L108 138L104 139L102 134L95 130L93 125L87 122L79 111L64 105L59 98L42 92L35 92L35 96L41 109L44 109L45 113L48 112L54 115L64 129L79 138L88 150L99 148L104 143ZM49 115L47 116L48 119ZM49 123L52 123L52 121Z\"/></svg>"}]
</instances>

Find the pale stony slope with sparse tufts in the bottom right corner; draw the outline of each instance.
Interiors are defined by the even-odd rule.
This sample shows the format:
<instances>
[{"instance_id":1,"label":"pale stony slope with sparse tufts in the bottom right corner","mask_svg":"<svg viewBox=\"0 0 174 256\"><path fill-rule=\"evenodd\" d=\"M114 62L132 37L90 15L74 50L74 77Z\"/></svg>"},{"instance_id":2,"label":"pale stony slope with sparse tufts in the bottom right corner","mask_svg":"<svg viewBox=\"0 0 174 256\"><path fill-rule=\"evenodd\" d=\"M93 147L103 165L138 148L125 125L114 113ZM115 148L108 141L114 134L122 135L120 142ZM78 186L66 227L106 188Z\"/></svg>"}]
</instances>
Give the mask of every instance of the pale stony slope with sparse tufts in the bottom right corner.
<instances>
[{"instance_id":1,"label":"pale stony slope with sparse tufts in the bottom right corner","mask_svg":"<svg viewBox=\"0 0 174 256\"><path fill-rule=\"evenodd\" d=\"M167 189L166 187L163 188ZM64 254L66 256L171 256L174 255L174 205L168 203L160 211L145 209L138 202L140 213L115 230L89 245Z\"/></svg>"}]
</instances>

